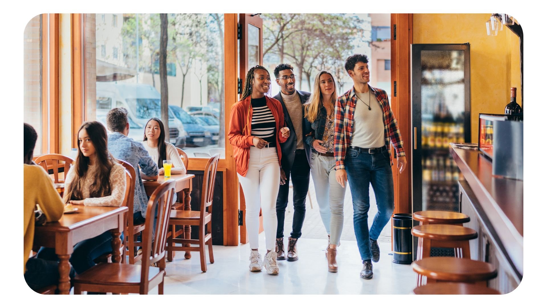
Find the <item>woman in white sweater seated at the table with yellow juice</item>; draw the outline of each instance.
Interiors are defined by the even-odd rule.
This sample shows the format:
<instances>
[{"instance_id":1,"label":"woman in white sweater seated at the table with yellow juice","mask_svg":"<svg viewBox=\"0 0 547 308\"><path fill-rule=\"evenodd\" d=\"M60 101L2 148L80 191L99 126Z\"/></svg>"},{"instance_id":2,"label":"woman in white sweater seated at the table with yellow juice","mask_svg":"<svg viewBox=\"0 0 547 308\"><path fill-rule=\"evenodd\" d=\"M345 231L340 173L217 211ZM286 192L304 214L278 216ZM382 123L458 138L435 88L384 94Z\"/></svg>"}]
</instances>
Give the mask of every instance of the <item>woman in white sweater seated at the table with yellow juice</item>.
<instances>
[{"instance_id":1,"label":"woman in white sweater seated at the table with yellow juice","mask_svg":"<svg viewBox=\"0 0 547 308\"><path fill-rule=\"evenodd\" d=\"M164 160L173 164L172 174L185 174L186 168L178 155L177 149L169 142L165 142L164 123L159 118L151 118L144 127L144 148L148 151L152 160L158 164L159 174L164 174ZM161 167L161 168L160 168Z\"/></svg>"}]
</instances>

